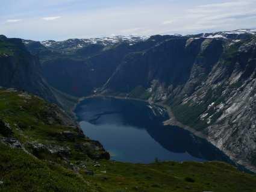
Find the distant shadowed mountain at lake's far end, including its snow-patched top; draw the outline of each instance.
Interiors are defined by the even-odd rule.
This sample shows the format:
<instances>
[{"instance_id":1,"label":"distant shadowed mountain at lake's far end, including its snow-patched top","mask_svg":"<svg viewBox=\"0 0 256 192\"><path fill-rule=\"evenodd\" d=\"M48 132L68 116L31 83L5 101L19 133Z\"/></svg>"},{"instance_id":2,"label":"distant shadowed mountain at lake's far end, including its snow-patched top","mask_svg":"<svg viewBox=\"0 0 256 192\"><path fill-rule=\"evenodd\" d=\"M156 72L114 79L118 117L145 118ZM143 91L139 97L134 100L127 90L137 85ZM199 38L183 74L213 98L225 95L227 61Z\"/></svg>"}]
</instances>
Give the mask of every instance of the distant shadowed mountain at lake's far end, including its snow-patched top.
<instances>
[{"instance_id":1,"label":"distant shadowed mountain at lake's far end, including its snow-patched top","mask_svg":"<svg viewBox=\"0 0 256 192\"><path fill-rule=\"evenodd\" d=\"M116 70L125 55L142 51L156 45L162 39L167 37L158 37L146 41L144 37L136 37L132 41L121 39L119 42L112 40L102 44L90 42L79 49L72 40L60 42L66 47L61 49L58 46L54 49L43 46L40 42L23 40L31 54L37 55L42 63L43 76L53 87L73 96L84 96L92 94L96 88L105 84L108 78ZM128 38L128 40L130 40ZM137 41L135 43L134 41ZM84 42L84 40L74 40L75 42ZM114 42L114 44L113 44ZM60 51L61 49L61 51Z\"/></svg>"}]
</instances>

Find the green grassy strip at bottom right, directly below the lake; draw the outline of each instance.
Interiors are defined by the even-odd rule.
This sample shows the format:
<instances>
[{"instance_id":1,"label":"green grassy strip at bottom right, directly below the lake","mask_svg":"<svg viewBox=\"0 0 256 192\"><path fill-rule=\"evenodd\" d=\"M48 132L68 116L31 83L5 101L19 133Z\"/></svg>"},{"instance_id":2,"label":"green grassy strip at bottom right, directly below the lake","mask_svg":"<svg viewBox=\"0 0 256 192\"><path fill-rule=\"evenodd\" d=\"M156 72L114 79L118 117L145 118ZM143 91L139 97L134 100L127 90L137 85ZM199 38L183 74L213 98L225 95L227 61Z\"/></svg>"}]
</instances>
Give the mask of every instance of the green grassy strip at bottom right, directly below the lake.
<instances>
[{"instance_id":1,"label":"green grassy strip at bottom right, directly below the lake","mask_svg":"<svg viewBox=\"0 0 256 192\"><path fill-rule=\"evenodd\" d=\"M90 166L89 166L90 167ZM127 164L101 161L84 175L98 191L256 191L255 176L225 163Z\"/></svg>"}]
</instances>

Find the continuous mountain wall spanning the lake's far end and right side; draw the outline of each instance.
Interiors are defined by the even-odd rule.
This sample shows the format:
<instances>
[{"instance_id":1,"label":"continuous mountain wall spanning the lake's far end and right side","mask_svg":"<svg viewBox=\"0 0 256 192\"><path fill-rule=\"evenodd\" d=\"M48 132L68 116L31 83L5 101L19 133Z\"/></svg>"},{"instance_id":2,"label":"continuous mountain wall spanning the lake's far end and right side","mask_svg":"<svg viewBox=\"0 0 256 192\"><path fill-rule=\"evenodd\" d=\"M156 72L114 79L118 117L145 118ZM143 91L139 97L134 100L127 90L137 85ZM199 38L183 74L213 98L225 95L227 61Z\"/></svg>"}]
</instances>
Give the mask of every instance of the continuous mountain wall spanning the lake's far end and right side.
<instances>
[{"instance_id":1,"label":"continuous mountain wall spanning the lake's far end and right side","mask_svg":"<svg viewBox=\"0 0 256 192\"><path fill-rule=\"evenodd\" d=\"M137 43L91 42L72 52L49 45L43 47L52 55L38 55L55 88L74 96L162 102L176 121L255 170L255 41L255 29L239 29L157 35Z\"/></svg>"}]
</instances>

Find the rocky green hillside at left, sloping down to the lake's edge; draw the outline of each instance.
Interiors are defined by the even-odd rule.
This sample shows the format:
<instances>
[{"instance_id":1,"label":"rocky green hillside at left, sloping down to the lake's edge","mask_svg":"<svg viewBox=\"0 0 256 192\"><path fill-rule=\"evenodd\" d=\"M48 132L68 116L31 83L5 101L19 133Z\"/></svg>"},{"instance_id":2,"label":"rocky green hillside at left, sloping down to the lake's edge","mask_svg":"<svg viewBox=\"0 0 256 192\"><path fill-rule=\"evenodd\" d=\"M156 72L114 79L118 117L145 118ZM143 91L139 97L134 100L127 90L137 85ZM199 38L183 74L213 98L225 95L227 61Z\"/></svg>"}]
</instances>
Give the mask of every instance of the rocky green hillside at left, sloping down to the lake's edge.
<instances>
[{"instance_id":1,"label":"rocky green hillside at left, sloping down to the lake's edge","mask_svg":"<svg viewBox=\"0 0 256 192\"><path fill-rule=\"evenodd\" d=\"M16 138L31 153L34 152L33 143L51 146L57 150L64 148L67 151L63 158L62 154L51 155L45 150L40 150L36 152L38 158L66 164L66 158L74 162L104 155L101 147L95 150L97 144L83 137L63 111L37 96L1 90L0 120L7 123L11 129L9 135L4 135L4 129L0 129L0 136L2 134L4 137Z\"/></svg>"}]
</instances>

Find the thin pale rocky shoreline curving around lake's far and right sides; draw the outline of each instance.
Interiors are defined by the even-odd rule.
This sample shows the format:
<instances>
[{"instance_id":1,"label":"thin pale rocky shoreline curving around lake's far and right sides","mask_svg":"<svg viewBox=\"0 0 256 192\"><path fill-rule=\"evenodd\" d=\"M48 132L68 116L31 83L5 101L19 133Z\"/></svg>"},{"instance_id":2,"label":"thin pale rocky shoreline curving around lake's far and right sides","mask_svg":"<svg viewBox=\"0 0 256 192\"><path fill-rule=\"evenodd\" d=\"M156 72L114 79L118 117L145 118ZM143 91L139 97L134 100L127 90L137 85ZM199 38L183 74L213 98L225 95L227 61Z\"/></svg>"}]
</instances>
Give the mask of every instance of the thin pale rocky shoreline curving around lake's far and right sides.
<instances>
[{"instance_id":1,"label":"thin pale rocky shoreline curving around lake's far and right sides","mask_svg":"<svg viewBox=\"0 0 256 192\"><path fill-rule=\"evenodd\" d=\"M195 129L191 128L190 126L184 125L183 123L181 123L178 120L176 120L176 118L175 118L175 116L174 116L174 114L172 112L172 109L168 105L163 104L163 102L152 102L152 101L148 101L148 100L145 100L145 99L130 98L130 97L124 97L124 96L112 96L112 95L104 95L104 94L93 94L91 96L86 96L86 97L79 98L78 102L72 107L71 112L74 115L76 121L78 120L78 117L76 116L76 114L74 112L76 107L82 101L84 101L85 99L92 99L92 98L113 98L113 99L120 99L120 100L141 101L141 102L146 102L147 104L150 104L150 105L157 105L158 107L163 107L164 110L166 111L166 113L169 116L169 119L165 120L163 122L163 125L166 125L166 126L167 125L178 126L181 129L185 129L185 130L191 132L193 135L196 135L197 137L200 137L200 138L203 138L203 139L207 140L209 143L213 144L213 146L217 147L217 145L215 143L213 143L207 135L203 134L202 132L196 131ZM221 150L221 149L219 149L219 150ZM221 151L226 156L228 156L231 159L231 161L233 161L235 164L237 164L237 166L245 167L245 169L247 169L249 172L254 173L254 174L256 173L256 168L255 167L251 166L250 164L248 164L245 161L241 161L240 159L234 158L234 156L231 155L231 153L229 153L227 151L224 151L224 150L221 150ZM240 163L238 163L238 162L240 162Z\"/></svg>"}]
</instances>

